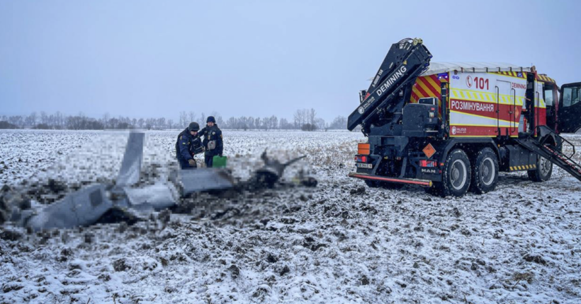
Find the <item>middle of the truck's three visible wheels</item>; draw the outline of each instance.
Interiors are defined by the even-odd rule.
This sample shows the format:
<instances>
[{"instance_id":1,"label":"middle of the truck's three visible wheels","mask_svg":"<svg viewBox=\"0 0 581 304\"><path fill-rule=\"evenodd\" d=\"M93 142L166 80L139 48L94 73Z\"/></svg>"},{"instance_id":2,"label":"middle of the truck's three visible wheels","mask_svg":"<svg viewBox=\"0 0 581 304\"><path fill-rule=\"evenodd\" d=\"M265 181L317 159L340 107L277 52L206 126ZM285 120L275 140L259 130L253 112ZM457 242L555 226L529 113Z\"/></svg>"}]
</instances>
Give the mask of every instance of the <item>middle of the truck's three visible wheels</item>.
<instances>
[{"instance_id":1,"label":"middle of the truck's three visible wheels","mask_svg":"<svg viewBox=\"0 0 581 304\"><path fill-rule=\"evenodd\" d=\"M483 194L495 189L498 182L498 160L491 148L483 148L473 163L472 186L474 192Z\"/></svg>"}]
</instances>

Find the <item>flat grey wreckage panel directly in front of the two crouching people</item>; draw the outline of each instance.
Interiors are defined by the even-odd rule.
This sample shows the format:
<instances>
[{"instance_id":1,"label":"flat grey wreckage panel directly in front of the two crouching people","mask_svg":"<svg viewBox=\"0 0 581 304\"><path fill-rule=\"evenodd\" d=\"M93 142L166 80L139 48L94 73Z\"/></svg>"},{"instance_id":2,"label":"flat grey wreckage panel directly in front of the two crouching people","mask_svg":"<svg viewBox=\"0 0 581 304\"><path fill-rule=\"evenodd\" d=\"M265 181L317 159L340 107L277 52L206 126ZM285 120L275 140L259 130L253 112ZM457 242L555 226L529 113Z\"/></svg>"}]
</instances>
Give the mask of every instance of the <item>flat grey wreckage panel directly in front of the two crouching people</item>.
<instances>
[{"instance_id":1,"label":"flat grey wreckage panel directly in front of the two crouching people","mask_svg":"<svg viewBox=\"0 0 581 304\"><path fill-rule=\"evenodd\" d=\"M232 175L227 170L215 168L180 170L178 182L183 197L193 192L230 189L235 185Z\"/></svg>"}]
</instances>

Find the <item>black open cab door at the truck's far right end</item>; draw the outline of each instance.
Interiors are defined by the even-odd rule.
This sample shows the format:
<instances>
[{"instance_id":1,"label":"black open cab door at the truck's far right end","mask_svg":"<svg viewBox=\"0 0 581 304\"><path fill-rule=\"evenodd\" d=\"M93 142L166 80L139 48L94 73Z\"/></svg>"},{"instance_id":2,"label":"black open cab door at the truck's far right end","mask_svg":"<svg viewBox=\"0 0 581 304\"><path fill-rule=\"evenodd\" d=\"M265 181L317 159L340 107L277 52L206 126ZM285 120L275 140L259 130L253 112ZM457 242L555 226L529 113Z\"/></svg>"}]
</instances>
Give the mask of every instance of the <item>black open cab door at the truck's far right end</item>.
<instances>
[{"instance_id":1,"label":"black open cab door at the truck's far right end","mask_svg":"<svg viewBox=\"0 0 581 304\"><path fill-rule=\"evenodd\" d=\"M561 133L581 129L581 82L561 86L557 119Z\"/></svg>"}]
</instances>

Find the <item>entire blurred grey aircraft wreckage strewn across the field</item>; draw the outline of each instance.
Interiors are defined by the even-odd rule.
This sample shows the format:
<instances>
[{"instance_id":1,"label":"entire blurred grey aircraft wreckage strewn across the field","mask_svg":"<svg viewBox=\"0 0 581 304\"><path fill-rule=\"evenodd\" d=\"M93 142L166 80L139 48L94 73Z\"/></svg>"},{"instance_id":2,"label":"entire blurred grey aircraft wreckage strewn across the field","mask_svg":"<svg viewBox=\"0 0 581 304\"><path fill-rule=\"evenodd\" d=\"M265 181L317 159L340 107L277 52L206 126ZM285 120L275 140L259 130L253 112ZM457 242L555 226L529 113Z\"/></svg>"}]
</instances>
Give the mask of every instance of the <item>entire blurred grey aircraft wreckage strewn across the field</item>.
<instances>
[{"instance_id":1,"label":"entire blurred grey aircraft wreckage strewn across the field","mask_svg":"<svg viewBox=\"0 0 581 304\"><path fill-rule=\"evenodd\" d=\"M112 212L115 214L117 211L145 217L152 211L171 208L178 204L181 197L188 197L196 192L227 189L255 191L273 187L289 165L305 157L281 163L269 158L264 151L261 155L264 166L245 182L237 182L227 169L198 168L180 170L176 178L171 178L168 182L132 187L140 180L144 139L145 134L142 132L130 133L115 185L86 186L36 213L18 209L16 215L12 216L12 222L38 231L89 226L102 222L102 218L107 218L105 222L110 222L111 218L123 218L111 216ZM137 211L137 214L128 211Z\"/></svg>"}]
</instances>

